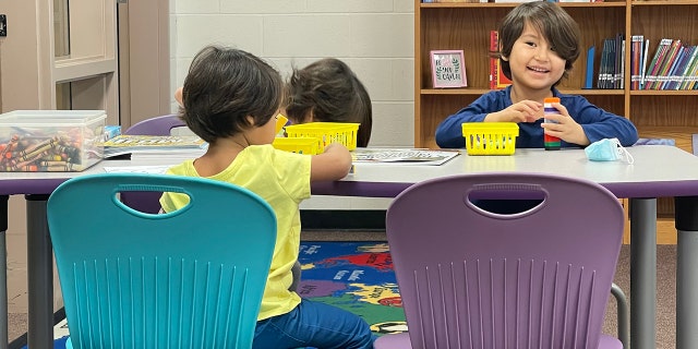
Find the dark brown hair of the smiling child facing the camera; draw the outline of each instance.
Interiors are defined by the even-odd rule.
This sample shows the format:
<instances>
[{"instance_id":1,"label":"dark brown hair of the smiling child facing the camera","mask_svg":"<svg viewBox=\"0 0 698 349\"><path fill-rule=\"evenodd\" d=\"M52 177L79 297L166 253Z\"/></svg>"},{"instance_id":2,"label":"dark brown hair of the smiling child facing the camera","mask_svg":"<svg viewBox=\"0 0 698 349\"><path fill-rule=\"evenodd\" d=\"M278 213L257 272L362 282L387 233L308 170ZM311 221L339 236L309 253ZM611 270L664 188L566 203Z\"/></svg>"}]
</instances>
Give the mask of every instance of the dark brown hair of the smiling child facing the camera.
<instances>
[{"instance_id":1,"label":"dark brown hair of the smiling child facing the camera","mask_svg":"<svg viewBox=\"0 0 698 349\"><path fill-rule=\"evenodd\" d=\"M512 10L500 25L500 61L506 77L512 79L509 62L502 57L509 57L514 43L524 33L524 26L530 24L540 32L559 58L565 60L567 77L573 64L579 58L579 25L563 8L553 2L525 2ZM561 79L561 80L562 80ZM557 85L559 81L555 83Z\"/></svg>"}]
</instances>

